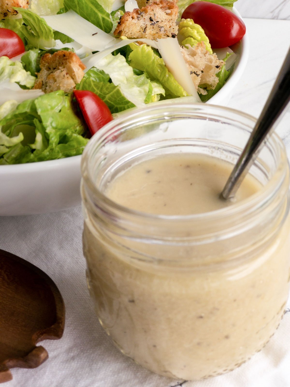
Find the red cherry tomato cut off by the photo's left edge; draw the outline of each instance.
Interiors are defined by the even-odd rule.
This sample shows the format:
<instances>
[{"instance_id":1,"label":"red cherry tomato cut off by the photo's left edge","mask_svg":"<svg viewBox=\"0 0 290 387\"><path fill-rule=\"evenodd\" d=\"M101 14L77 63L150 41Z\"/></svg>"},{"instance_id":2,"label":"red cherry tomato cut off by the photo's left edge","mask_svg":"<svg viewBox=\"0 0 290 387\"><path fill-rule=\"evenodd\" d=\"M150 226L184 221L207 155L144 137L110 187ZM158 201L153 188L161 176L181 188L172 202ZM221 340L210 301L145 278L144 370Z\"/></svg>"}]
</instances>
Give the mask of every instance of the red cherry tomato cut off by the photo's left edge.
<instances>
[{"instance_id":1,"label":"red cherry tomato cut off by the photo's left edge","mask_svg":"<svg viewBox=\"0 0 290 387\"><path fill-rule=\"evenodd\" d=\"M21 38L7 28L0 28L0 57L14 58L25 51Z\"/></svg>"}]
</instances>

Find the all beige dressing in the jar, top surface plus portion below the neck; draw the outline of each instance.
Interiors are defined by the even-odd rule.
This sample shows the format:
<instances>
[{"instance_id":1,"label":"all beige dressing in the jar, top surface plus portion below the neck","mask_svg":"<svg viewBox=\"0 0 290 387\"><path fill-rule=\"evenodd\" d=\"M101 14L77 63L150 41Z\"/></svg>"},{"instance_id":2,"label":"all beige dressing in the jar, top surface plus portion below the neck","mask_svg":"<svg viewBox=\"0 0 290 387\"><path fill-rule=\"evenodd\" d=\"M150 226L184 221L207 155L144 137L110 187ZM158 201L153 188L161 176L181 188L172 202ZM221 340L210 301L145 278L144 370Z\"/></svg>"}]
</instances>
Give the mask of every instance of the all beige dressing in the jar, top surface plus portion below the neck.
<instances>
[{"instance_id":1,"label":"all beige dressing in the jar, top surface plus portion below the neck","mask_svg":"<svg viewBox=\"0 0 290 387\"><path fill-rule=\"evenodd\" d=\"M106 195L151 214L213 211L230 205L219 194L231 168L204 155L158 156L116 176ZM247 175L236 200L259 189L258 181ZM235 241L242 249L246 242ZM217 243L167 249L151 243L145 253L160 257L165 252L165 260L186 255L194 261L202 251L210 260ZM225 245L225 254L234 248ZM138 250L136 242L103 233L87 214L84 253L97 315L121 351L142 366L186 380L218 375L241 365L275 332L290 281L288 219L275 238L251 251L245 247L242 260L230 267L172 270L139 261L130 249Z\"/></svg>"}]
</instances>

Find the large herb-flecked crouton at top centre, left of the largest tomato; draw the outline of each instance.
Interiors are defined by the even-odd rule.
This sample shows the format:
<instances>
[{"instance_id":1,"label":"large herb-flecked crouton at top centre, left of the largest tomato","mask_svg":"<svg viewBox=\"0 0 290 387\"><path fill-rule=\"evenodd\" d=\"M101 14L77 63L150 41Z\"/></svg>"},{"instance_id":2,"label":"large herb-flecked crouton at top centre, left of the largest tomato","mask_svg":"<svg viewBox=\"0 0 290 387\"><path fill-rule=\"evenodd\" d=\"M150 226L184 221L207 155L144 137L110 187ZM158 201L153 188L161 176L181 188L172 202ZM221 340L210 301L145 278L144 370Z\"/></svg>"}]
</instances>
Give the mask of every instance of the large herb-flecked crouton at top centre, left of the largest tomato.
<instances>
[{"instance_id":1,"label":"large herb-flecked crouton at top centre, left of the largest tomato","mask_svg":"<svg viewBox=\"0 0 290 387\"><path fill-rule=\"evenodd\" d=\"M125 12L118 22L114 35L128 38L175 38L178 32L175 2L155 0L141 9Z\"/></svg>"}]
</instances>

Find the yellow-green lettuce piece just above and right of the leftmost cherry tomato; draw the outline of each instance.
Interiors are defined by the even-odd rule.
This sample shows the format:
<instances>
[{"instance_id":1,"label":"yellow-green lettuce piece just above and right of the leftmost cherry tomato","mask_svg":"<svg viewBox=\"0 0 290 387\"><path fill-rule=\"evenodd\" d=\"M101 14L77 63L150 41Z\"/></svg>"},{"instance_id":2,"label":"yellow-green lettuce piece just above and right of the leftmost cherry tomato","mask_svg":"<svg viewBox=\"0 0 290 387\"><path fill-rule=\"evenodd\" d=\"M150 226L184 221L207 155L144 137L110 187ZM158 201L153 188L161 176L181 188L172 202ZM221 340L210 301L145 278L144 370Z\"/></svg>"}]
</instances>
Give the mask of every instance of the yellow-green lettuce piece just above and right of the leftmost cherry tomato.
<instances>
[{"instance_id":1,"label":"yellow-green lettuce piece just above and right of the leftmost cherry tomato","mask_svg":"<svg viewBox=\"0 0 290 387\"><path fill-rule=\"evenodd\" d=\"M27 44L37 48L50 48L55 46L53 29L46 21L34 14L30 9L15 8L22 16L26 26L21 26L21 33L25 36Z\"/></svg>"}]
</instances>

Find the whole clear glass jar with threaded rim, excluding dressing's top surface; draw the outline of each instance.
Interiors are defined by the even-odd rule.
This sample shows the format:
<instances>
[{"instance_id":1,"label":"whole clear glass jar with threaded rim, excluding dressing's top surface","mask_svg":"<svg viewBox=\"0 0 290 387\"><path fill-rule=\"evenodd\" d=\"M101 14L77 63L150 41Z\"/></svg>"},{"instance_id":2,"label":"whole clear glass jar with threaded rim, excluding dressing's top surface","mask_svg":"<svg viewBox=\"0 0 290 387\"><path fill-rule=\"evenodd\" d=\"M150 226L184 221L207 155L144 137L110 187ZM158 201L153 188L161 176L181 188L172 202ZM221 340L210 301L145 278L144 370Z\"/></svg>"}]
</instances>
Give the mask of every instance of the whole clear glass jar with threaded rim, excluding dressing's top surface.
<instances>
[{"instance_id":1,"label":"whole clear glass jar with threaded rim, excluding dressing's top surface","mask_svg":"<svg viewBox=\"0 0 290 387\"><path fill-rule=\"evenodd\" d=\"M198 380L233 370L278 327L290 281L285 148L273 134L250 170L261 190L217 211L145 214L104 192L119 173L160 154L235 163L254 123L228 108L164 104L112 121L85 149L90 294L118 348L160 375Z\"/></svg>"}]
</instances>

